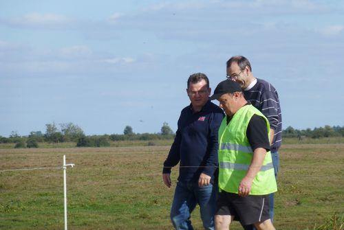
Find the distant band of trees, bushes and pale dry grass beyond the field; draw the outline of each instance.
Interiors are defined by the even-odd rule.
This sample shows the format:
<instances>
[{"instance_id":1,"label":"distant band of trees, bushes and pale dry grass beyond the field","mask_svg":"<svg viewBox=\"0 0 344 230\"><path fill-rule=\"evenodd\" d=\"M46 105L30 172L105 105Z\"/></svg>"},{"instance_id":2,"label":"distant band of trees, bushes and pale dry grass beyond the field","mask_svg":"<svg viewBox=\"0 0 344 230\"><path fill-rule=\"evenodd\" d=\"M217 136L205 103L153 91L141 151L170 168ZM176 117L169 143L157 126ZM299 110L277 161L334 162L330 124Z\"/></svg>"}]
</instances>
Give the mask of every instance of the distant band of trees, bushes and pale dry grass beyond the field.
<instances>
[{"instance_id":1,"label":"distant band of trees, bushes and pale dry grass beyond the field","mask_svg":"<svg viewBox=\"0 0 344 230\"><path fill-rule=\"evenodd\" d=\"M155 146L171 143L175 137L166 122L162 124L160 133L133 133L131 126L125 126L123 134L111 135L85 135L79 126L71 122L59 126L55 123L45 124L45 134L32 131L28 136L20 136L12 131L10 137L0 136L0 148L118 147L127 143L129 146ZM288 126L282 135L283 143L343 143L344 126L324 126L313 130L298 130Z\"/></svg>"}]
</instances>

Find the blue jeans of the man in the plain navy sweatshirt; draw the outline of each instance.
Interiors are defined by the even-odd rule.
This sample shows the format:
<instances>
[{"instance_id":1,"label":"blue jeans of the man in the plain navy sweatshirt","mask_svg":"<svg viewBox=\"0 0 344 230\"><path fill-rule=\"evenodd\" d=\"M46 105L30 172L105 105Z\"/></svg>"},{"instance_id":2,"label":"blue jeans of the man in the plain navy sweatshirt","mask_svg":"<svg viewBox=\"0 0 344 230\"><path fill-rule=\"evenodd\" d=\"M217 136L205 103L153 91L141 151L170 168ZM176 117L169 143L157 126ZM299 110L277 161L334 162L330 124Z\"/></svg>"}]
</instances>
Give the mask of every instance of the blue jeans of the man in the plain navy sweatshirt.
<instances>
[{"instance_id":1,"label":"blue jeans of the man in the plain navy sweatshirt","mask_svg":"<svg viewBox=\"0 0 344 230\"><path fill-rule=\"evenodd\" d=\"M175 187L171 221L175 229L193 229L191 212L200 205L204 229L214 229L217 185L199 187L197 182L180 182Z\"/></svg>"}]
</instances>

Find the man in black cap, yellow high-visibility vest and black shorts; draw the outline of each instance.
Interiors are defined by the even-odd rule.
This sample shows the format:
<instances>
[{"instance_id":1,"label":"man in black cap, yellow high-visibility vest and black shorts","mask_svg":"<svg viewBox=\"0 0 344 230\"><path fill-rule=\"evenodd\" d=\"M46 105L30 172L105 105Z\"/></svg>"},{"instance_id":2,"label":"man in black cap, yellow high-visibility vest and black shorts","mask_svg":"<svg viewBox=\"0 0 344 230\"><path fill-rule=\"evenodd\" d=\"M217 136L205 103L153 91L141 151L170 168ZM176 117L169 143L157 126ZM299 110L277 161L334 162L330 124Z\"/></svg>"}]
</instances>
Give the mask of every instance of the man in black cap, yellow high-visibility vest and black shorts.
<instances>
[{"instance_id":1,"label":"man in black cap, yellow high-visibility vest and black shorts","mask_svg":"<svg viewBox=\"0 0 344 230\"><path fill-rule=\"evenodd\" d=\"M220 82L211 96L215 99L226 113L219 128L215 229L228 229L234 218L259 230L275 229L268 204L268 194L277 191L268 119L245 100L237 82Z\"/></svg>"}]
</instances>

